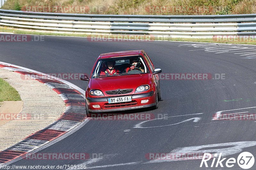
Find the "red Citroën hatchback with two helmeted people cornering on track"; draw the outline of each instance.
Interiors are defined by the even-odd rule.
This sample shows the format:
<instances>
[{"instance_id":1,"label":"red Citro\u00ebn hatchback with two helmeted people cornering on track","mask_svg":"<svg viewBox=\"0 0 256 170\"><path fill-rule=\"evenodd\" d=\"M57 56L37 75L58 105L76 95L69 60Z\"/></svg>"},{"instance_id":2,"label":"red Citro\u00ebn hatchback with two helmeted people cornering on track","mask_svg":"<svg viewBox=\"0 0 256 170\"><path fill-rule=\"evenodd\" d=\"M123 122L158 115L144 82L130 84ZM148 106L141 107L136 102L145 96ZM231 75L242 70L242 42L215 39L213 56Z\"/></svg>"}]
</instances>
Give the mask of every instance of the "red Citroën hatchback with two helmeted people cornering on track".
<instances>
[{"instance_id":1,"label":"red Citro\u00ebn hatchback with two helmeted people cornering on track","mask_svg":"<svg viewBox=\"0 0 256 170\"><path fill-rule=\"evenodd\" d=\"M86 113L137 108L158 108L161 100L158 73L143 50L101 54L93 66L85 92Z\"/></svg>"}]
</instances>

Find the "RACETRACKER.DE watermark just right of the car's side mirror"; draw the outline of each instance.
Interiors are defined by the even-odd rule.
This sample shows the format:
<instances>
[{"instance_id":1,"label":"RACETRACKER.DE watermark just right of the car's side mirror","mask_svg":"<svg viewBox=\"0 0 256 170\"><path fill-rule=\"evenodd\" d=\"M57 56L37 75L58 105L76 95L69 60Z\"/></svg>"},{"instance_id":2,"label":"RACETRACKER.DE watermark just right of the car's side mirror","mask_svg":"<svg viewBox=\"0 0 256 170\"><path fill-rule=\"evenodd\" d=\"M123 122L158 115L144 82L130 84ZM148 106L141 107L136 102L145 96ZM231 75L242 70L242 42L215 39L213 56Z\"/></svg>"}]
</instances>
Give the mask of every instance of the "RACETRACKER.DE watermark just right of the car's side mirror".
<instances>
[{"instance_id":1,"label":"RACETRACKER.DE watermark just right of the car's side mirror","mask_svg":"<svg viewBox=\"0 0 256 170\"><path fill-rule=\"evenodd\" d=\"M160 80L224 80L225 73L160 73Z\"/></svg>"}]
</instances>

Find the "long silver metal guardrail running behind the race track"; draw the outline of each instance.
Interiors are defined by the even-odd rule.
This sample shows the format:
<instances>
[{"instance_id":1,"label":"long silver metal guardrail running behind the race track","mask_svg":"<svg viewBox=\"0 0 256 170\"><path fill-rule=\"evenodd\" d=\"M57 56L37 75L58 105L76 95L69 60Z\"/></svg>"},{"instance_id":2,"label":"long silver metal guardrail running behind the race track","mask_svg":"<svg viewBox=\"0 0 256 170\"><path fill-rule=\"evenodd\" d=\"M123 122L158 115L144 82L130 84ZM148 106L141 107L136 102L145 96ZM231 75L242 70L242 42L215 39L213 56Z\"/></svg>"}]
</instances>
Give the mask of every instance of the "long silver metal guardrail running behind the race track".
<instances>
[{"instance_id":1,"label":"long silver metal guardrail running behind the race track","mask_svg":"<svg viewBox=\"0 0 256 170\"><path fill-rule=\"evenodd\" d=\"M97 15L0 10L0 26L51 32L209 38L256 35L256 14Z\"/></svg>"}]
</instances>

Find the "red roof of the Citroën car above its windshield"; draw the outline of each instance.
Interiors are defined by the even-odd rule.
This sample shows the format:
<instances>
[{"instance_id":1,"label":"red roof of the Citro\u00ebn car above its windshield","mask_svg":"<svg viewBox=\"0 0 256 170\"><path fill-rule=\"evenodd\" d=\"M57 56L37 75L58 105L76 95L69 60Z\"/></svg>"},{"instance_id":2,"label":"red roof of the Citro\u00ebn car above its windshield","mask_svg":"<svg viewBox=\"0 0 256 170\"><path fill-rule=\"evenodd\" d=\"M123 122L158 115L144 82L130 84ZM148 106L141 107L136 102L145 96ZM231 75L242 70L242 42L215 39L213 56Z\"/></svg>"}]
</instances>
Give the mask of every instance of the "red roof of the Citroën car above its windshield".
<instances>
[{"instance_id":1,"label":"red roof of the Citro\u00ebn car above its windshield","mask_svg":"<svg viewBox=\"0 0 256 170\"><path fill-rule=\"evenodd\" d=\"M113 58L113 57L123 57L123 56L133 56L141 55L143 50L131 50L131 51L117 51L111 53L103 53L99 56L100 58Z\"/></svg>"}]
</instances>

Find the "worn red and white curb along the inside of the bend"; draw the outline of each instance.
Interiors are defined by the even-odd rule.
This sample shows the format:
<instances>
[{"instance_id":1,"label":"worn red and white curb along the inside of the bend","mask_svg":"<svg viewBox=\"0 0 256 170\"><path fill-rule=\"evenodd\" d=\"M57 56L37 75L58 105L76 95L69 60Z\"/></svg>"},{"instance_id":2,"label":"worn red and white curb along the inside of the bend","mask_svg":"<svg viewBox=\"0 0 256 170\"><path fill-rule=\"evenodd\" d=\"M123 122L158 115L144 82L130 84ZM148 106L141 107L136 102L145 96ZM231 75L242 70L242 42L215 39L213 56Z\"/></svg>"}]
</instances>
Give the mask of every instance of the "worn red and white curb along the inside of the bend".
<instances>
[{"instance_id":1,"label":"worn red and white curb along the inside of the bend","mask_svg":"<svg viewBox=\"0 0 256 170\"><path fill-rule=\"evenodd\" d=\"M20 142L2 150L0 152L0 165L10 163L21 156L24 157L27 153L48 144L54 139L76 128L87 118L85 111L85 97L83 95L84 91L76 85L59 78L50 78L50 76L47 77L47 75L43 73L9 63L0 62L0 67L34 78L44 85L47 85L57 92L66 104L65 112L57 121L44 129L29 135Z\"/></svg>"}]
</instances>

